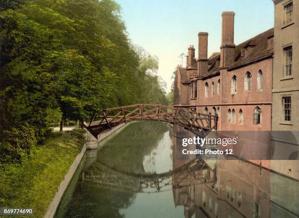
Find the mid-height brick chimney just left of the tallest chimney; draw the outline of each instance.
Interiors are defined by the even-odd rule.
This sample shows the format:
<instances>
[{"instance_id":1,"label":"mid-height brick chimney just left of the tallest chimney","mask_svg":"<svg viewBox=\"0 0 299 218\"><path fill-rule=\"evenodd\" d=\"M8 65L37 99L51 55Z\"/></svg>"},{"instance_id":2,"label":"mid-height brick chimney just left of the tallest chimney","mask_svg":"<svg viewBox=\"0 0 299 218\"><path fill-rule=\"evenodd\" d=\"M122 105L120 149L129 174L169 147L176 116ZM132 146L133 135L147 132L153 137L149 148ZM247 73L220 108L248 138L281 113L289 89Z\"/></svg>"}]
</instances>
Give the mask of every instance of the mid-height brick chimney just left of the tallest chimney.
<instances>
[{"instance_id":1,"label":"mid-height brick chimney just left of the tallest chimney","mask_svg":"<svg viewBox=\"0 0 299 218\"><path fill-rule=\"evenodd\" d=\"M203 76L208 71L208 33L198 33L197 75Z\"/></svg>"}]
</instances>

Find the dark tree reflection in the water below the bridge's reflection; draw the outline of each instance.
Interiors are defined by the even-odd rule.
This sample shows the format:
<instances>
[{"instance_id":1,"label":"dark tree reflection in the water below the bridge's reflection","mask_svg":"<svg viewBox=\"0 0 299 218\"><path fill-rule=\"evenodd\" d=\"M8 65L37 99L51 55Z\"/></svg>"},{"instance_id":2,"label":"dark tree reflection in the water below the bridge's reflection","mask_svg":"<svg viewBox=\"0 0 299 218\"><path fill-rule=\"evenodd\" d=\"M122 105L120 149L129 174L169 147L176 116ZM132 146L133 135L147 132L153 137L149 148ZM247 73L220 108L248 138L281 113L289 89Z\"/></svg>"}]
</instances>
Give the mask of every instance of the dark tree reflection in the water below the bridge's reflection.
<instances>
[{"instance_id":1,"label":"dark tree reflection in the water below the bridge's reflection","mask_svg":"<svg viewBox=\"0 0 299 218\"><path fill-rule=\"evenodd\" d=\"M119 209L127 208L135 198L136 194L132 192L97 188L90 183L83 187L79 184L66 217L123 218Z\"/></svg>"}]
</instances>

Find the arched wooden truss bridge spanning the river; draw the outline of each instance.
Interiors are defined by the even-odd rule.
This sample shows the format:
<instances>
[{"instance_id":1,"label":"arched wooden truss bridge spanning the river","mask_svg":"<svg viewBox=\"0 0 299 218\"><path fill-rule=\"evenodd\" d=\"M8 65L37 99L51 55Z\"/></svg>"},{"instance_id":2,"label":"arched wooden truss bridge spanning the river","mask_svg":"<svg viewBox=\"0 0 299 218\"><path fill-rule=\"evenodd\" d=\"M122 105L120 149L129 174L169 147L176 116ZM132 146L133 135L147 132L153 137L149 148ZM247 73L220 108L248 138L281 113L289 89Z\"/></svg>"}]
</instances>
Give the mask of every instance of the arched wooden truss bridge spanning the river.
<instances>
[{"instance_id":1,"label":"arched wooden truss bridge spanning the river","mask_svg":"<svg viewBox=\"0 0 299 218\"><path fill-rule=\"evenodd\" d=\"M161 104L134 104L102 110L90 121L87 130L97 136L121 123L136 120L158 120L177 124L190 131L199 131L207 135L217 129L217 116L200 114L191 110L174 108ZM213 122L212 122L213 120Z\"/></svg>"}]
</instances>

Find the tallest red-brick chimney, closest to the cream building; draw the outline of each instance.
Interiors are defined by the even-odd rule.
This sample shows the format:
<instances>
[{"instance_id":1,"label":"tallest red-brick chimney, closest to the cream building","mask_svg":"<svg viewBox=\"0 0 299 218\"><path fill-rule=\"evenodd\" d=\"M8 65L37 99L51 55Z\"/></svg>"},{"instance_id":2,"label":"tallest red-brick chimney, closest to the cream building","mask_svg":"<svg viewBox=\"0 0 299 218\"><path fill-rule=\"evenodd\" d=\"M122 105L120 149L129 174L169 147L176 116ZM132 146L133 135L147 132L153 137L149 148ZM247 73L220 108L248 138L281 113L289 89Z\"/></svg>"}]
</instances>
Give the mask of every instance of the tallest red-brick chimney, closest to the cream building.
<instances>
[{"instance_id":1,"label":"tallest red-brick chimney, closest to the cream building","mask_svg":"<svg viewBox=\"0 0 299 218\"><path fill-rule=\"evenodd\" d=\"M234 12L225 11L222 13L220 67L229 67L235 59L234 20Z\"/></svg>"}]
</instances>

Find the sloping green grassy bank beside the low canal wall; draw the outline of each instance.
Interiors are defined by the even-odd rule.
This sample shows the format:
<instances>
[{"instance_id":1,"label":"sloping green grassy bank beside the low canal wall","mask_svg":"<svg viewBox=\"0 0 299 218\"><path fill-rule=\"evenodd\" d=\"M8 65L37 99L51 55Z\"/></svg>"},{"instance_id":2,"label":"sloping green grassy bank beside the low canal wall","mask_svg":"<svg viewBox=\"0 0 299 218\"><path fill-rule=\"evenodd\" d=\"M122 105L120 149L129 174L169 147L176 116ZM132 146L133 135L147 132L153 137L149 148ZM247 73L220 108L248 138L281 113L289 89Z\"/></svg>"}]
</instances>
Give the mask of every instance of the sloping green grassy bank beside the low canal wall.
<instances>
[{"instance_id":1,"label":"sloping green grassy bank beside the low canal wall","mask_svg":"<svg viewBox=\"0 0 299 218\"><path fill-rule=\"evenodd\" d=\"M84 130L56 132L21 164L0 164L0 206L32 208L41 218L85 143Z\"/></svg>"}]
</instances>

